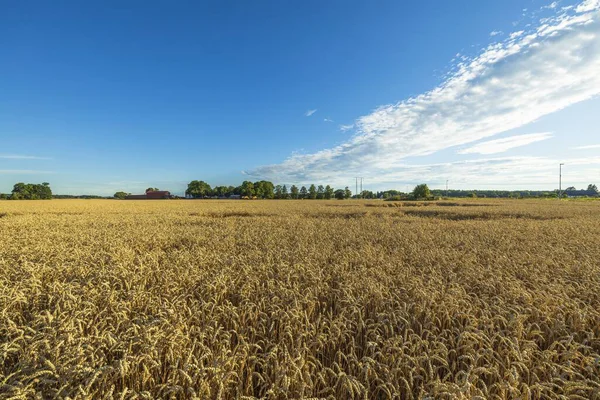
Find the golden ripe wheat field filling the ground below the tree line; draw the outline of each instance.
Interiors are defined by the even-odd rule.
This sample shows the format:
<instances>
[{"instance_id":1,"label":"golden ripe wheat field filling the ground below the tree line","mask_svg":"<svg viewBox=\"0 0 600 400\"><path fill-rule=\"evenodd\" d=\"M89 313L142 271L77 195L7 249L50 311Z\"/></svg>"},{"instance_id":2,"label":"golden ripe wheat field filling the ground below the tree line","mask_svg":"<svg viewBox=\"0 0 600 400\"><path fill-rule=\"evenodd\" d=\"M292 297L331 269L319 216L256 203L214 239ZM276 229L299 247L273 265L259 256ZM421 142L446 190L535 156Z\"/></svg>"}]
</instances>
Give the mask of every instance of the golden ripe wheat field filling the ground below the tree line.
<instances>
[{"instance_id":1,"label":"golden ripe wheat field filling the ground below the tree line","mask_svg":"<svg viewBox=\"0 0 600 400\"><path fill-rule=\"evenodd\" d=\"M0 202L0 398L600 399L600 202Z\"/></svg>"}]
</instances>

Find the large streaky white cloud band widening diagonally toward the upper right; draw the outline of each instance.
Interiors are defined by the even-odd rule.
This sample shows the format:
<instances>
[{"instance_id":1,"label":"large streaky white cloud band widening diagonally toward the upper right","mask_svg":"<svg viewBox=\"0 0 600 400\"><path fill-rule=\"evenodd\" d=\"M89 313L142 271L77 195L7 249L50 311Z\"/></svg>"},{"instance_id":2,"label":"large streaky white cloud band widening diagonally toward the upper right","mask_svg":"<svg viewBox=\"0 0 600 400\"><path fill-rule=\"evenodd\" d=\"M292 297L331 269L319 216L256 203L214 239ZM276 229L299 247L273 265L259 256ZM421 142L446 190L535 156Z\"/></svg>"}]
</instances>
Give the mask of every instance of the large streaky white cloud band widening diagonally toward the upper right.
<instances>
[{"instance_id":1,"label":"large streaky white cloud band widening diagonally toward the upper right","mask_svg":"<svg viewBox=\"0 0 600 400\"><path fill-rule=\"evenodd\" d=\"M474 58L457 60L433 90L358 118L356 134L345 143L247 173L280 182L398 179L409 157L489 138L597 96L597 9L558 11Z\"/></svg>"}]
</instances>

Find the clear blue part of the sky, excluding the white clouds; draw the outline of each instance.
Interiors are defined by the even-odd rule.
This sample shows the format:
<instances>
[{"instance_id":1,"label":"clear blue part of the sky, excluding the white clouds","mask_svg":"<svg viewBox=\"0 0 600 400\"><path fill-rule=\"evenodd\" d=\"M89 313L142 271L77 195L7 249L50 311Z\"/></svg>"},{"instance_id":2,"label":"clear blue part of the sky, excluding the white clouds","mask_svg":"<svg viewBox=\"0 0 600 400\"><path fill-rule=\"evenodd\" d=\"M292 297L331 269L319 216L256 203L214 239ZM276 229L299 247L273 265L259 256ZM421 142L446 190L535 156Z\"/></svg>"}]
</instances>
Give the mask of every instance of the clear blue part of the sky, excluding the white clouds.
<instances>
[{"instance_id":1,"label":"clear blue part of the sky, excluding the white clouds","mask_svg":"<svg viewBox=\"0 0 600 400\"><path fill-rule=\"evenodd\" d=\"M545 4L2 2L0 192L18 181L110 195L259 179L242 171L351 140L357 130L342 125L443 84L457 53L476 56L500 37L492 31L506 37L530 23L524 9ZM600 122L589 116L598 101L587 101L561 111L589 118L584 131ZM556 121L547 124L518 133ZM583 135L581 146L600 143ZM441 151L415 163L451 158ZM291 180L278 183L310 183Z\"/></svg>"}]
</instances>

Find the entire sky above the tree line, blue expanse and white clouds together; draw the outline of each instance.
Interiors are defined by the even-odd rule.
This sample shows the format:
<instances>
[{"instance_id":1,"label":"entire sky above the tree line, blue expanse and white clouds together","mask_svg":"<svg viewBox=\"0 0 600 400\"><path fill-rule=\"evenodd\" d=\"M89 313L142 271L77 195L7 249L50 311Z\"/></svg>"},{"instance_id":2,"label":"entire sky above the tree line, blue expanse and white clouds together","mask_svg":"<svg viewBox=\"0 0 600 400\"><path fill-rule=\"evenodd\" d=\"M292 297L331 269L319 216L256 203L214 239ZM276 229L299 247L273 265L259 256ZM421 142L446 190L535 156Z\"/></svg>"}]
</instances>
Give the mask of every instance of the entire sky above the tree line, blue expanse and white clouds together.
<instances>
[{"instance_id":1,"label":"entire sky above the tree line, blue expanse and white clouds together","mask_svg":"<svg viewBox=\"0 0 600 400\"><path fill-rule=\"evenodd\" d=\"M0 7L0 192L600 184L599 0Z\"/></svg>"}]
</instances>

